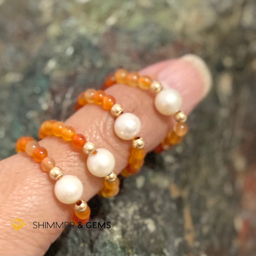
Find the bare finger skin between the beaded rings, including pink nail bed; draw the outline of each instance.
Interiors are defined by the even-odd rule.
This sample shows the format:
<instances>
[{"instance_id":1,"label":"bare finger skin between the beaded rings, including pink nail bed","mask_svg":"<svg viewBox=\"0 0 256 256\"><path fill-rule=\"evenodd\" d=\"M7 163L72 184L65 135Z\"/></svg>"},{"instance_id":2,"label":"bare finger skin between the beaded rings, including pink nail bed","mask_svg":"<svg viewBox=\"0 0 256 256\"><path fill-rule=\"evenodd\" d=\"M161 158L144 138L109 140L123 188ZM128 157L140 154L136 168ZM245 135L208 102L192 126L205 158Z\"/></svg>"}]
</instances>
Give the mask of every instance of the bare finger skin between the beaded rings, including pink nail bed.
<instances>
[{"instance_id":1,"label":"bare finger skin between the beaded rings, including pink nail bed","mask_svg":"<svg viewBox=\"0 0 256 256\"><path fill-rule=\"evenodd\" d=\"M209 90L207 88L206 91L202 72L185 59L160 62L139 73L178 90L183 97L181 110L187 114ZM153 150L172 128L173 119L155 110L151 93L119 84L105 92L112 94L116 102L123 105L125 112L134 113L141 120L140 135L145 139L147 151ZM110 150L116 161L114 171L120 173L127 164L131 141L121 140L114 134L114 120L102 107L88 104L72 115L65 124L72 125L77 133L84 134L98 148ZM76 150L69 142L53 136L41 140L40 145L46 147L48 156L55 159L63 175L75 175L82 181L84 200L88 201L102 188L103 179L89 173L86 155L82 150ZM55 198L55 182L25 152L1 161L0 179L1 254L43 255L62 229L33 229L32 223L70 221L73 205L64 205ZM27 226L18 232L14 231L10 223L14 218L24 219Z\"/></svg>"}]
</instances>

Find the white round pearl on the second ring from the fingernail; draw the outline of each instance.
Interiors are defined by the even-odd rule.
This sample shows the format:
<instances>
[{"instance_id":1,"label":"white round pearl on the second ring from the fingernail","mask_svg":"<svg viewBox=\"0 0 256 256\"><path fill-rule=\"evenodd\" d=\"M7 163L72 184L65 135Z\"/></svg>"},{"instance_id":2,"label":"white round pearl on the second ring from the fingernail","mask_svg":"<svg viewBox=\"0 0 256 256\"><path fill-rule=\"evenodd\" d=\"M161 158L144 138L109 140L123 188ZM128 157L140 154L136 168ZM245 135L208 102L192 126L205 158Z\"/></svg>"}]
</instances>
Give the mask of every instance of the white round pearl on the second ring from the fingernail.
<instances>
[{"instance_id":1,"label":"white round pearl on the second ring from the fingernail","mask_svg":"<svg viewBox=\"0 0 256 256\"><path fill-rule=\"evenodd\" d=\"M120 115L114 124L114 130L118 137L123 140L131 140L141 130L141 121L132 113Z\"/></svg>"}]
</instances>

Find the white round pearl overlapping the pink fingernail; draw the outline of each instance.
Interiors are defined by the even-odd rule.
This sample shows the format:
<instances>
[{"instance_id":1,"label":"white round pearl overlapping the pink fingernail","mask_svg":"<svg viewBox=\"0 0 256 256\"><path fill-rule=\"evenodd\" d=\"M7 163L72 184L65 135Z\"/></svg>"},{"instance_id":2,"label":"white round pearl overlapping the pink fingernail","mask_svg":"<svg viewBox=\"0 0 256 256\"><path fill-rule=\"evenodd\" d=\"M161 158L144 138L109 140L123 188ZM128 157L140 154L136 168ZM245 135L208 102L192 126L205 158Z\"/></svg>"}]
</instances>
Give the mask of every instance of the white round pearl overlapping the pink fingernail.
<instances>
[{"instance_id":1,"label":"white round pearl overlapping the pink fingernail","mask_svg":"<svg viewBox=\"0 0 256 256\"><path fill-rule=\"evenodd\" d=\"M155 97L155 107L163 115L173 115L179 111L182 97L174 89L163 89Z\"/></svg>"}]
</instances>

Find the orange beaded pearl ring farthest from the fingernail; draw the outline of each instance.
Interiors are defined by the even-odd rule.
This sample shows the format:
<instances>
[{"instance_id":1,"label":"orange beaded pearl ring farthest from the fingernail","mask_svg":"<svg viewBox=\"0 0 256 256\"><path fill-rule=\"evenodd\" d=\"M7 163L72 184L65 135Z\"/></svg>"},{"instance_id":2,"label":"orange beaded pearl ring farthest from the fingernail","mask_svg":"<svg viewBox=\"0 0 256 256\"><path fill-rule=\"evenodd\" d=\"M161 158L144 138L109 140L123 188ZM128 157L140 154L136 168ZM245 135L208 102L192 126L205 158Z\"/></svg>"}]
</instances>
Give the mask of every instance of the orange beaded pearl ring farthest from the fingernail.
<instances>
[{"instance_id":1,"label":"orange beaded pearl ring farthest from the fingernail","mask_svg":"<svg viewBox=\"0 0 256 256\"><path fill-rule=\"evenodd\" d=\"M90 218L90 207L86 201L80 199L83 193L83 184L80 179L74 175L63 175L62 170L55 165L55 160L48 156L45 147L41 147L32 137L21 137L16 142L16 150L18 153L26 152L32 156L45 173L49 173L49 177L56 180L54 185L54 193L56 198L64 204L74 205L73 222L86 223Z\"/></svg>"}]
</instances>

